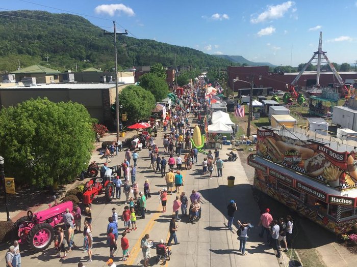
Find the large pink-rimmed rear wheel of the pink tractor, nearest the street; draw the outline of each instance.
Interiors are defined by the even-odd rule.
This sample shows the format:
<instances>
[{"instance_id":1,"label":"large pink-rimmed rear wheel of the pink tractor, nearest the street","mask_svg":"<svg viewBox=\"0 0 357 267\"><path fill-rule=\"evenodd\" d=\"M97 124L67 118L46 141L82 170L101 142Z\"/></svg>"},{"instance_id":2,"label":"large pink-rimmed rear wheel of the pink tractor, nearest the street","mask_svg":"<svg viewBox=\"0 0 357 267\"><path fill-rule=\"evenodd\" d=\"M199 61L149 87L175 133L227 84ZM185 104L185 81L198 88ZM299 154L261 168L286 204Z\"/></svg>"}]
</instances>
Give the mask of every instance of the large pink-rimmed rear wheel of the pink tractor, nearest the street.
<instances>
[{"instance_id":1,"label":"large pink-rimmed rear wheel of the pink tractor, nearest the street","mask_svg":"<svg viewBox=\"0 0 357 267\"><path fill-rule=\"evenodd\" d=\"M36 224L28 234L29 248L34 251L46 249L54 239L54 230L48 223Z\"/></svg>"}]
</instances>

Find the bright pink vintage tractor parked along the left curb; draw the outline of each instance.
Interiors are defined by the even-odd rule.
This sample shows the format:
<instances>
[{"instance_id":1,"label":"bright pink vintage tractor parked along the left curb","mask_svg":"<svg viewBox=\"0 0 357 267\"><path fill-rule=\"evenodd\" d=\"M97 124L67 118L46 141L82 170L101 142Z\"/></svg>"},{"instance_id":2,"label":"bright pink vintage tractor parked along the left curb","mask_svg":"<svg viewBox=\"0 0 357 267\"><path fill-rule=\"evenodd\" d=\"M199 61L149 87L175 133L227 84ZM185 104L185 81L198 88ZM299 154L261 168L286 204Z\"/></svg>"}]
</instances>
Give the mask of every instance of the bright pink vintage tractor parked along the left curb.
<instances>
[{"instance_id":1,"label":"bright pink vintage tractor parked along the left curb","mask_svg":"<svg viewBox=\"0 0 357 267\"><path fill-rule=\"evenodd\" d=\"M54 227L63 223L66 209L72 212L72 201L54 205L41 212L28 211L27 216L21 217L14 223L19 244L28 244L34 251L46 249L54 240Z\"/></svg>"}]
</instances>

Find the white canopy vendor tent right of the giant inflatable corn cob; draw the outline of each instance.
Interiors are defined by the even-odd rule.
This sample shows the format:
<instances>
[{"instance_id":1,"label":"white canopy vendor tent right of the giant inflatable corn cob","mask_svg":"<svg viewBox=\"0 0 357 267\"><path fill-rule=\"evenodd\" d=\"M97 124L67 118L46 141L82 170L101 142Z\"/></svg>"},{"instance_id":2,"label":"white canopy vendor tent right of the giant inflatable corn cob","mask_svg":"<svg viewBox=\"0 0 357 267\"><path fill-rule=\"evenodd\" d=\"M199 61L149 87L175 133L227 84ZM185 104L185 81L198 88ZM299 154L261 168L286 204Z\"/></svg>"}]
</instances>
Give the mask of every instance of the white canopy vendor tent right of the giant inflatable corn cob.
<instances>
[{"instance_id":1,"label":"white canopy vendor tent right of the giant inflatable corn cob","mask_svg":"<svg viewBox=\"0 0 357 267\"><path fill-rule=\"evenodd\" d=\"M208 126L208 135L207 135L207 149L221 149L222 140L231 138L226 138L226 134L231 136L233 133L232 126L226 125L222 122L217 122ZM225 135L223 135L225 134ZM224 138L225 137L225 138Z\"/></svg>"}]
</instances>

